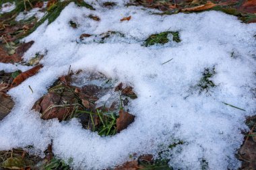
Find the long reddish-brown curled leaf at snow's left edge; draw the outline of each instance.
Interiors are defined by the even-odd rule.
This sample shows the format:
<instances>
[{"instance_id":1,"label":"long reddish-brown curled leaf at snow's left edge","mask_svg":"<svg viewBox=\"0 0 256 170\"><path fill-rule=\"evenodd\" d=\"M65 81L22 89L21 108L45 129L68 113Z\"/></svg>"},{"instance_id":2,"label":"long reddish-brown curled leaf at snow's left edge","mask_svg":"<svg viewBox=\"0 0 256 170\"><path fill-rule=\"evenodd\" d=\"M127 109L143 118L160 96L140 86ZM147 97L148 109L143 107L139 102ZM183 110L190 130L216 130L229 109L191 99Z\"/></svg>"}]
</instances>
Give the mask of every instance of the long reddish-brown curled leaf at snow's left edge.
<instances>
[{"instance_id":1,"label":"long reddish-brown curled leaf at snow's left edge","mask_svg":"<svg viewBox=\"0 0 256 170\"><path fill-rule=\"evenodd\" d=\"M43 67L42 65L37 65L36 67L33 67L32 69L29 69L28 71L25 71L25 72L21 73L20 75L15 77L15 79L13 79L13 82L11 83L11 87L15 87L17 85L20 85L20 83L22 83L23 81L28 79L28 77L32 77L33 75L38 73L38 71L42 67Z\"/></svg>"}]
</instances>

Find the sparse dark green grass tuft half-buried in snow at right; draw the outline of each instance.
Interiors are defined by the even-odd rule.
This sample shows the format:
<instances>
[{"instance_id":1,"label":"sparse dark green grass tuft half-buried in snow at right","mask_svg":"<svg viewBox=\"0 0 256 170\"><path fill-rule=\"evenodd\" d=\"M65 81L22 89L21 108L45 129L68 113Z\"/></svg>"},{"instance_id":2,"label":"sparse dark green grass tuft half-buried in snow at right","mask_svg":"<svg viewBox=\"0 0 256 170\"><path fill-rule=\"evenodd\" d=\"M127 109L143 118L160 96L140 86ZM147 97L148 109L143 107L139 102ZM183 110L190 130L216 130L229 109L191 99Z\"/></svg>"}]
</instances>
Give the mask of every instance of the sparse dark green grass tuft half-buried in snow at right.
<instances>
[{"instance_id":1,"label":"sparse dark green grass tuft half-buried in snow at right","mask_svg":"<svg viewBox=\"0 0 256 170\"><path fill-rule=\"evenodd\" d=\"M197 86L200 88L201 91L209 91L211 87L215 87L216 85L211 80L212 77L216 74L215 67L213 68L205 68L203 71L203 77L201 77Z\"/></svg>"}]
</instances>

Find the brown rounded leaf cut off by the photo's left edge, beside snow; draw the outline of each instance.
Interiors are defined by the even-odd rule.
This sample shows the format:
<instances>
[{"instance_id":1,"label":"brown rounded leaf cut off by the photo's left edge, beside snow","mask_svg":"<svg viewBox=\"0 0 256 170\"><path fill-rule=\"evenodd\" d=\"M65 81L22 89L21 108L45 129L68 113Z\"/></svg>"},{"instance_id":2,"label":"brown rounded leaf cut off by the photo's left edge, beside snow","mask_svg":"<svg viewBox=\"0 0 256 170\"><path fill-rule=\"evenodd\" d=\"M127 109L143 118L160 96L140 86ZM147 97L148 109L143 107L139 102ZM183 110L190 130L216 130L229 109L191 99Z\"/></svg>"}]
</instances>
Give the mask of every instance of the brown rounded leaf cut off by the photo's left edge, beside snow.
<instances>
[{"instance_id":1,"label":"brown rounded leaf cut off by the photo's left edge, beside snow","mask_svg":"<svg viewBox=\"0 0 256 170\"><path fill-rule=\"evenodd\" d=\"M0 120L3 120L11 109L13 108L14 102L11 99L11 96L6 93L0 92Z\"/></svg>"}]
</instances>

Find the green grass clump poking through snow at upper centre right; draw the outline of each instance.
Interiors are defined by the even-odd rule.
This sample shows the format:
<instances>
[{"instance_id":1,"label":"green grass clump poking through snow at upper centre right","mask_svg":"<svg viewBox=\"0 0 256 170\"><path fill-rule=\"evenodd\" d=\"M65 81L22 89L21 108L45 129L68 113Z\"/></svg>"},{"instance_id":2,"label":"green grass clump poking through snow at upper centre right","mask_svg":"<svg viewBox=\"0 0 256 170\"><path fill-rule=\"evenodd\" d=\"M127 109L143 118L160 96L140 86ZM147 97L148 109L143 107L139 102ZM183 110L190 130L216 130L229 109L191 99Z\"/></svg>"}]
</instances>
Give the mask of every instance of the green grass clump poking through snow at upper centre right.
<instances>
[{"instance_id":1,"label":"green grass clump poking through snow at upper centre right","mask_svg":"<svg viewBox=\"0 0 256 170\"><path fill-rule=\"evenodd\" d=\"M172 34L172 40L174 42L181 42L181 39L179 38L179 32L161 32L159 34L152 34L145 40L144 45L152 46L154 44L166 44L169 42L169 34Z\"/></svg>"}]
</instances>

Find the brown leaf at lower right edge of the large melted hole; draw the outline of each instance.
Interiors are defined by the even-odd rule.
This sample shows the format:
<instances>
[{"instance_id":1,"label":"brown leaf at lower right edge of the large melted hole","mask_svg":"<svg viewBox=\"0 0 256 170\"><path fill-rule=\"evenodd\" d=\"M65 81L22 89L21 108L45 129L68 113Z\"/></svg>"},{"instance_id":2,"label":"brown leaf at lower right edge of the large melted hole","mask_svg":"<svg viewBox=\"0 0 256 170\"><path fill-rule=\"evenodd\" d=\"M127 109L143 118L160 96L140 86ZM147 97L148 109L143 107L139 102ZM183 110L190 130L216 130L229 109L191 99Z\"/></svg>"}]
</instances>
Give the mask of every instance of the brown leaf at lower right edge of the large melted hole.
<instances>
[{"instance_id":1,"label":"brown leaf at lower right edge of the large melted hole","mask_svg":"<svg viewBox=\"0 0 256 170\"><path fill-rule=\"evenodd\" d=\"M119 111L119 118L117 118L117 132L121 132L134 121L135 116L125 112L124 110Z\"/></svg>"}]
</instances>

